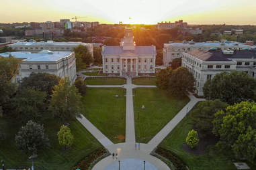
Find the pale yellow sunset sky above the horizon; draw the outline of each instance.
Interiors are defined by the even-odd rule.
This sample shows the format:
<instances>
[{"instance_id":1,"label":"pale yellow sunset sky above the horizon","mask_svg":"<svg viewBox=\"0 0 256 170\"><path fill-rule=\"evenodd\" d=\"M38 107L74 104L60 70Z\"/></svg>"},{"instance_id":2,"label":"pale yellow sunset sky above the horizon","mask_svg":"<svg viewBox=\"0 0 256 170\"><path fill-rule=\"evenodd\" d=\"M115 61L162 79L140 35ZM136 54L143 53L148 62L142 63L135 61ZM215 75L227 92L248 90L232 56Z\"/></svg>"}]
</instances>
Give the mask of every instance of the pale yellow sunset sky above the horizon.
<instances>
[{"instance_id":1,"label":"pale yellow sunset sky above the horizon","mask_svg":"<svg viewBox=\"0 0 256 170\"><path fill-rule=\"evenodd\" d=\"M255 0L0 0L0 23L99 21L256 25Z\"/></svg>"}]
</instances>

